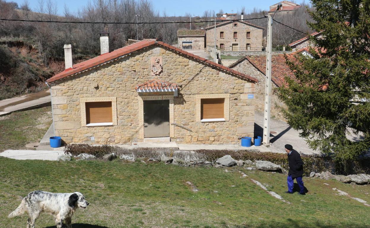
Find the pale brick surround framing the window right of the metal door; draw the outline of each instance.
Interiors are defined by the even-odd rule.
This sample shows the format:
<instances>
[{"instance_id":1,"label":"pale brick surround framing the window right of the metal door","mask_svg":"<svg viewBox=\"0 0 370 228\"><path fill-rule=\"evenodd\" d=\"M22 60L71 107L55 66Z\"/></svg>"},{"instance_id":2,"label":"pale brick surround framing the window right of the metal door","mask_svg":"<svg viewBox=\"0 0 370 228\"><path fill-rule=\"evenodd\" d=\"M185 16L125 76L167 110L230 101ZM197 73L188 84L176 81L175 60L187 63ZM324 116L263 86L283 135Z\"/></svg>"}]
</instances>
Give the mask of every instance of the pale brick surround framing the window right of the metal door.
<instances>
[{"instance_id":1,"label":"pale brick surround framing the window right of the metal door","mask_svg":"<svg viewBox=\"0 0 370 228\"><path fill-rule=\"evenodd\" d=\"M202 112L202 99L211 99L211 98L225 98L223 105L223 119L201 119ZM195 108L195 118L196 122L224 122L229 121L230 116L230 93L211 93L211 94L197 94L196 95L196 108Z\"/></svg>"}]
</instances>

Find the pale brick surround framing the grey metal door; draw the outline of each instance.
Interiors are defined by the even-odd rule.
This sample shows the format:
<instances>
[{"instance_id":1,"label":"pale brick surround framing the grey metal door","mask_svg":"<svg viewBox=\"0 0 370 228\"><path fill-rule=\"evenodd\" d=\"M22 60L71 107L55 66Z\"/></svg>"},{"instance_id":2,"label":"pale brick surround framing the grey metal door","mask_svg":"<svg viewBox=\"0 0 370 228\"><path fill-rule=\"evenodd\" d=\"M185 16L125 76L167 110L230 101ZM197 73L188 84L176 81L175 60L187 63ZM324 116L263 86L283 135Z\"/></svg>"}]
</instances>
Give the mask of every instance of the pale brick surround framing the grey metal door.
<instances>
[{"instance_id":1,"label":"pale brick surround framing the grey metal door","mask_svg":"<svg viewBox=\"0 0 370 228\"><path fill-rule=\"evenodd\" d=\"M144 101L169 100L169 137L175 137L174 95L139 96L139 139L144 139Z\"/></svg>"}]
</instances>

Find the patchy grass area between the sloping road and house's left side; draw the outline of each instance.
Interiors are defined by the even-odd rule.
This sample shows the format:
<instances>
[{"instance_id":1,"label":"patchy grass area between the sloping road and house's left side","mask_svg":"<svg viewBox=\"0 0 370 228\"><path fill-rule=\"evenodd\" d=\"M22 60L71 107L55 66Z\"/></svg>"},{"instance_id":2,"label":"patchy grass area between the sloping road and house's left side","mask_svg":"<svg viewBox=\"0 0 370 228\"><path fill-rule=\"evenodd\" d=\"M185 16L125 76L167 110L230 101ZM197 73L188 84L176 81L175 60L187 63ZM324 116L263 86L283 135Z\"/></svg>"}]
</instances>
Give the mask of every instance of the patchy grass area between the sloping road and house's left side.
<instances>
[{"instance_id":1,"label":"patchy grass area between the sloping road and house's left side","mask_svg":"<svg viewBox=\"0 0 370 228\"><path fill-rule=\"evenodd\" d=\"M30 149L25 145L40 142L51 122L50 107L0 116L0 152L7 149Z\"/></svg>"}]
</instances>

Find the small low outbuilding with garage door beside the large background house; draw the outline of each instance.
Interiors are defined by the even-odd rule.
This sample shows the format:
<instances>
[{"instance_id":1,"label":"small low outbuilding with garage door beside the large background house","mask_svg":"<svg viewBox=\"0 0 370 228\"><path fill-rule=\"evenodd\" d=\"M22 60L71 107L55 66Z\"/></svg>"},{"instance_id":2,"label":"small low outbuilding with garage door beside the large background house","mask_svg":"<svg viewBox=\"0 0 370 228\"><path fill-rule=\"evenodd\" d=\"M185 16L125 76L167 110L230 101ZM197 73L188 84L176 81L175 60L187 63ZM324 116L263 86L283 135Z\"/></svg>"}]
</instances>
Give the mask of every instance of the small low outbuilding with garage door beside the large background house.
<instances>
[{"instance_id":1,"label":"small low outbuilding with garage door beside the large background house","mask_svg":"<svg viewBox=\"0 0 370 228\"><path fill-rule=\"evenodd\" d=\"M205 30L177 30L177 40L183 50L204 50Z\"/></svg>"}]
</instances>

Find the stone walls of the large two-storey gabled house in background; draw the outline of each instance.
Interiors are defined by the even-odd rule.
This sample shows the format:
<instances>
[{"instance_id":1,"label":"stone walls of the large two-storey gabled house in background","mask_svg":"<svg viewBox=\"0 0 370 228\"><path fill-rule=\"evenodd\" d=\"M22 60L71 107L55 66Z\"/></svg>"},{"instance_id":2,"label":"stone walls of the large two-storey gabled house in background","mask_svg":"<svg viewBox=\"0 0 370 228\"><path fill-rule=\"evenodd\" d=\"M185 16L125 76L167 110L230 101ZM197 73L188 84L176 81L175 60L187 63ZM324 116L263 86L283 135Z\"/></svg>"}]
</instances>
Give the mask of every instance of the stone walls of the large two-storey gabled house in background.
<instances>
[{"instance_id":1,"label":"stone walls of the large two-storey gabled house in background","mask_svg":"<svg viewBox=\"0 0 370 228\"><path fill-rule=\"evenodd\" d=\"M234 27L234 23L238 26ZM220 38L220 32L223 31L223 37ZM251 50L262 50L262 29L240 23L238 21L216 26L216 45L220 48L220 44L224 44L225 50L230 50L232 44L238 44L240 50L246 50L246 44L250 44ZM238 38L234 39L234 32L238 33ZM250 32L250 38L247 38L246 33ZM213 46L215 44L215 28L206 30L206 45Z\"/></svg>"}]
</instances>

